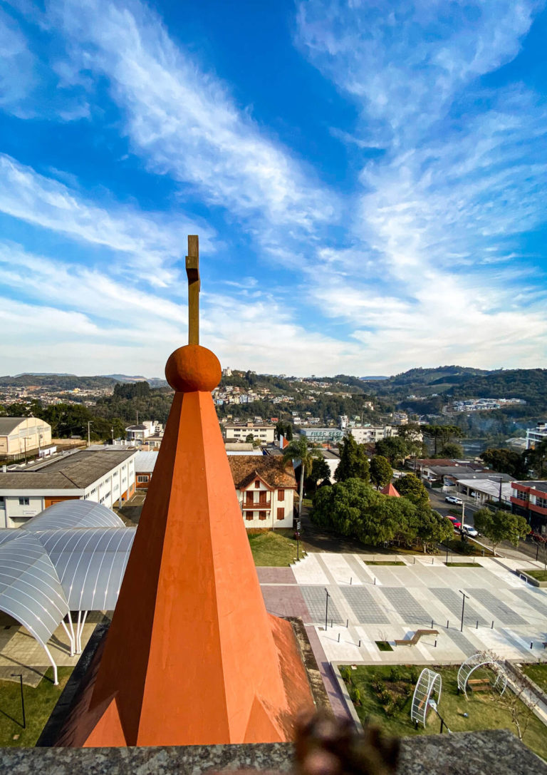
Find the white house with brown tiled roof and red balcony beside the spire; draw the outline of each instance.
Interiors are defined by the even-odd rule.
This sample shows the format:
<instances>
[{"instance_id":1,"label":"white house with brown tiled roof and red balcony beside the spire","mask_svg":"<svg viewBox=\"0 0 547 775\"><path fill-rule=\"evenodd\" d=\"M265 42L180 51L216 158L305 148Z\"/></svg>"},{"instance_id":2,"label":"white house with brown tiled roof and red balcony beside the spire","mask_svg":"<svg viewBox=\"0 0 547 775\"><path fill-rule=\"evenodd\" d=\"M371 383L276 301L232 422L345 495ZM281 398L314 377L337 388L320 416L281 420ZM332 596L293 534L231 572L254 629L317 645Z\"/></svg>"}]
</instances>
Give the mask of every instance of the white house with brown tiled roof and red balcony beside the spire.
<instances>
[{"instance_id":1,"label":"white house with brown tiled roof and red balcony beside the spire","mask_svg":"<svg viewBox=\"0 0 547 775\"><path fill-rule=\"evenodd\" d=\"M296 478L281 456L230 456L246 528L292 528Z\"/></svg>"}]
</instances>

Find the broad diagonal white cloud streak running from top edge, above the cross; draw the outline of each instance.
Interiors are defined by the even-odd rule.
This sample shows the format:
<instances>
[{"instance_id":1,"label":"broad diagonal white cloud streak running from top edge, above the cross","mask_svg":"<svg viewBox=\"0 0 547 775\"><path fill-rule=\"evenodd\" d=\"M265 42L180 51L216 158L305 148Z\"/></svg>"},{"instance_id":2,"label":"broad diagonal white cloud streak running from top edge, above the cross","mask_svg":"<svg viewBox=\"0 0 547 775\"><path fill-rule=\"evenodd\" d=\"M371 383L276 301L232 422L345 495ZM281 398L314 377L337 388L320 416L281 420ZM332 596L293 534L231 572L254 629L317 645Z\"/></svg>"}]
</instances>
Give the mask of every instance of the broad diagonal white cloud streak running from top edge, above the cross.
<instances>
[{"instance_id":1,"label":"broad diagonal white cloud streak running from top edge, above the cross","mask_svg":"<svg viewBox=\"0 0 547 775\"><path fill-rule=\"evenodd\" d=\"M66 0L51 9L74 59L110 80L132 148L152 170L193 184L208 204L240 219L260 215L270 226L308 232L333 218L333 195L175 46L144 5Z\"/></svg>"}]
</instances>

